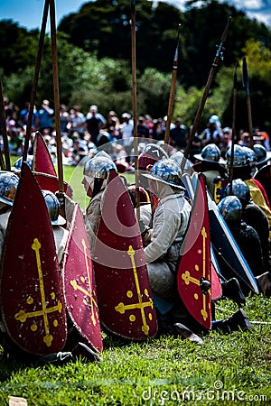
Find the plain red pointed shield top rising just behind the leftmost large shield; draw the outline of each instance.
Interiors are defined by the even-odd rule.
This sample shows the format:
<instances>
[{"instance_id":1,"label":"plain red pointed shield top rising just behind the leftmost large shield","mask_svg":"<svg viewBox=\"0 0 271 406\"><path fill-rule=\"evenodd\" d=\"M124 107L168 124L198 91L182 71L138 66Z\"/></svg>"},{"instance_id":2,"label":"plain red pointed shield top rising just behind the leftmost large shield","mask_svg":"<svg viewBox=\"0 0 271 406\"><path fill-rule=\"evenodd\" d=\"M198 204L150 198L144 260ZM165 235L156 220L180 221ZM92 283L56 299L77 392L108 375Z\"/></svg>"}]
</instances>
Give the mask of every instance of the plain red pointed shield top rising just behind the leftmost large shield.
<instances>
[{"instance_id":1,"label":"plain red pointed shield top rising just behind the leftmost large shield","mask_svg":"<svg viewBox=\"0 0 271 406\"><path fill-rule=\"evenodd\" d=\"M51 155L47 148L42 134L38 131L33 141L33 171L48 173L48 175L57 176L51 161Z\"/></svg>"}]
</instances>

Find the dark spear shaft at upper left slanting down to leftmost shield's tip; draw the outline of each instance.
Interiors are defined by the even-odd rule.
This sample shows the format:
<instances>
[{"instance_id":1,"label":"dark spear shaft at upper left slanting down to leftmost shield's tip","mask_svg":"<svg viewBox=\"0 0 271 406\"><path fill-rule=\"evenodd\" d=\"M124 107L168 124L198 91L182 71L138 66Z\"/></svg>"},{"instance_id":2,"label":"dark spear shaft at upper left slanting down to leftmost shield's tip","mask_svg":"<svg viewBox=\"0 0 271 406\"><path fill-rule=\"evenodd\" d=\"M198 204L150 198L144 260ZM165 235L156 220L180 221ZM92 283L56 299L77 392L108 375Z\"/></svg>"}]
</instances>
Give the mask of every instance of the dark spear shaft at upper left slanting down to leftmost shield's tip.
<instances>
[{"instance_id":1,"label":"dark spear shaft at upper left slanting down to leftmost shield's tip","mask_svg":"<svg viewBox=\"0 0 271 406\"><path fill-rule=\"evenodd\" d=\"M35 66L34 78L33 78L33 88L32 88L32 93L31 93L30 107L29 107L29 113L28 113L27 125L26 125L26 134L25 134L24 145L23 145L23 161L26 161L26 159L27 159L27 152L28 152L28 148L29 148L30 132L31 132L32 121L33 121L33 107L34 107L34 103L35 103L35 97L36 97L37 87L38 87L38 78L39 78L39 73L40 73L40 69L41 69L42 50L43 50L43 44L44 44L48 10L49 10L49 0L45 0L43 15L42 15L42 28L41 28L41 33L40 33L40 41L39 41L39 46L38 46L36 66Z\"/></svg>"}]
</instances>

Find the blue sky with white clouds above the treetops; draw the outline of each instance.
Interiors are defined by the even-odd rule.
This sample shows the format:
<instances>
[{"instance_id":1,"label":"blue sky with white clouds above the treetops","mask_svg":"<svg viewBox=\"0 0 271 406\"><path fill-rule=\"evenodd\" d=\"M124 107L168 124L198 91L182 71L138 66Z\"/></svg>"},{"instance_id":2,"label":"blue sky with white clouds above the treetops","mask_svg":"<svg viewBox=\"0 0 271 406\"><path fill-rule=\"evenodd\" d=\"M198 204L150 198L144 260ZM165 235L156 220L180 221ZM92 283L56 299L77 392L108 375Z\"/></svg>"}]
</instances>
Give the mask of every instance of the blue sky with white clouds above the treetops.
<instances>
[{"instance_id":1,"label":"blue sky with white clouds above the treetops","mask_svg":"<svg viewBox=\"0 0 271 406\"><path fill-rule=\"evenodd\" d=\"M185 0L164 1L183 10ZM56 0L57 24L64 15L78 12L84 3L88 3L88 0ZM229 0L228 3L243 10L249 18L257 18L271 27L271 0ZM199 4L201 4L201 0ZM40 29L43 5L44 0L0 0L0 20L12 19L27 29Z\"/></svg>"}]
</instances>

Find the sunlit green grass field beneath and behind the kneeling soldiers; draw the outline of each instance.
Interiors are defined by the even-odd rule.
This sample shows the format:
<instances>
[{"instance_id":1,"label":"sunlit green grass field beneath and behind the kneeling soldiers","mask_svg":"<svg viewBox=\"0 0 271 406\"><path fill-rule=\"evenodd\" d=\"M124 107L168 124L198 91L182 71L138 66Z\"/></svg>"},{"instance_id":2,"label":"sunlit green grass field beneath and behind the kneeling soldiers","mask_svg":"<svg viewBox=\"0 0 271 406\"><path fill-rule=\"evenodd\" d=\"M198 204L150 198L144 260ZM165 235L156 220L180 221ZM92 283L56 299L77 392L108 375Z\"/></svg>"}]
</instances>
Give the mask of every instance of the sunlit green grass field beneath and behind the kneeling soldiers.
<instances>
[{"instance_id":1,"label":"sunlit green grass field beneath and behind the kneeling soldiers","mask_svg":"<svg viewBox=\"0 0 271 406\"><path fill-rule=\"evenodd\" d=\"M64 178L84 207L81 173L80 167L65 168ZM217 318L237 310L229 300L217 307ZM0 346L0 405L11 395L39 406L271 404L271 301L249 297L245 310L254 330L211 331L203 346L171 336L124 342L103 331L102 363L14 363Z\"/></svg>"}]
</instances>

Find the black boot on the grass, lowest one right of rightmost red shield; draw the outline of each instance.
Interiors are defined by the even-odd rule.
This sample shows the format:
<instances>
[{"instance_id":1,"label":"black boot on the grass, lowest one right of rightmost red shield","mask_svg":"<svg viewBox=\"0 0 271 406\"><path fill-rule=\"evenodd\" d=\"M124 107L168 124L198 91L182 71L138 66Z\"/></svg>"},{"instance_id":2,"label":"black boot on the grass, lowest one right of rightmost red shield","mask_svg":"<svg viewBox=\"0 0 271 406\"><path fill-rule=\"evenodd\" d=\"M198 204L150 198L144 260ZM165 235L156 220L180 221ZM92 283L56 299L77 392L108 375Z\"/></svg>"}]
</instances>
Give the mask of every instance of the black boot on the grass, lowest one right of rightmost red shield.
<instances>
[{"instance_id":1,"label":"black boot on the grass, lowest one right of rightmost red shield","mask_svg":"<svg viewBox=\"0 0 271 406\"><path fill-rule=\"evenodd\" d=\"M220 330L222 333L229 334L232 331L248 331L253 329L253 326L248 320L247 313L243 309L238 309L238 311L230 318L214 321L212 324L212 329Z\"/></svg>"}]
</instances>

